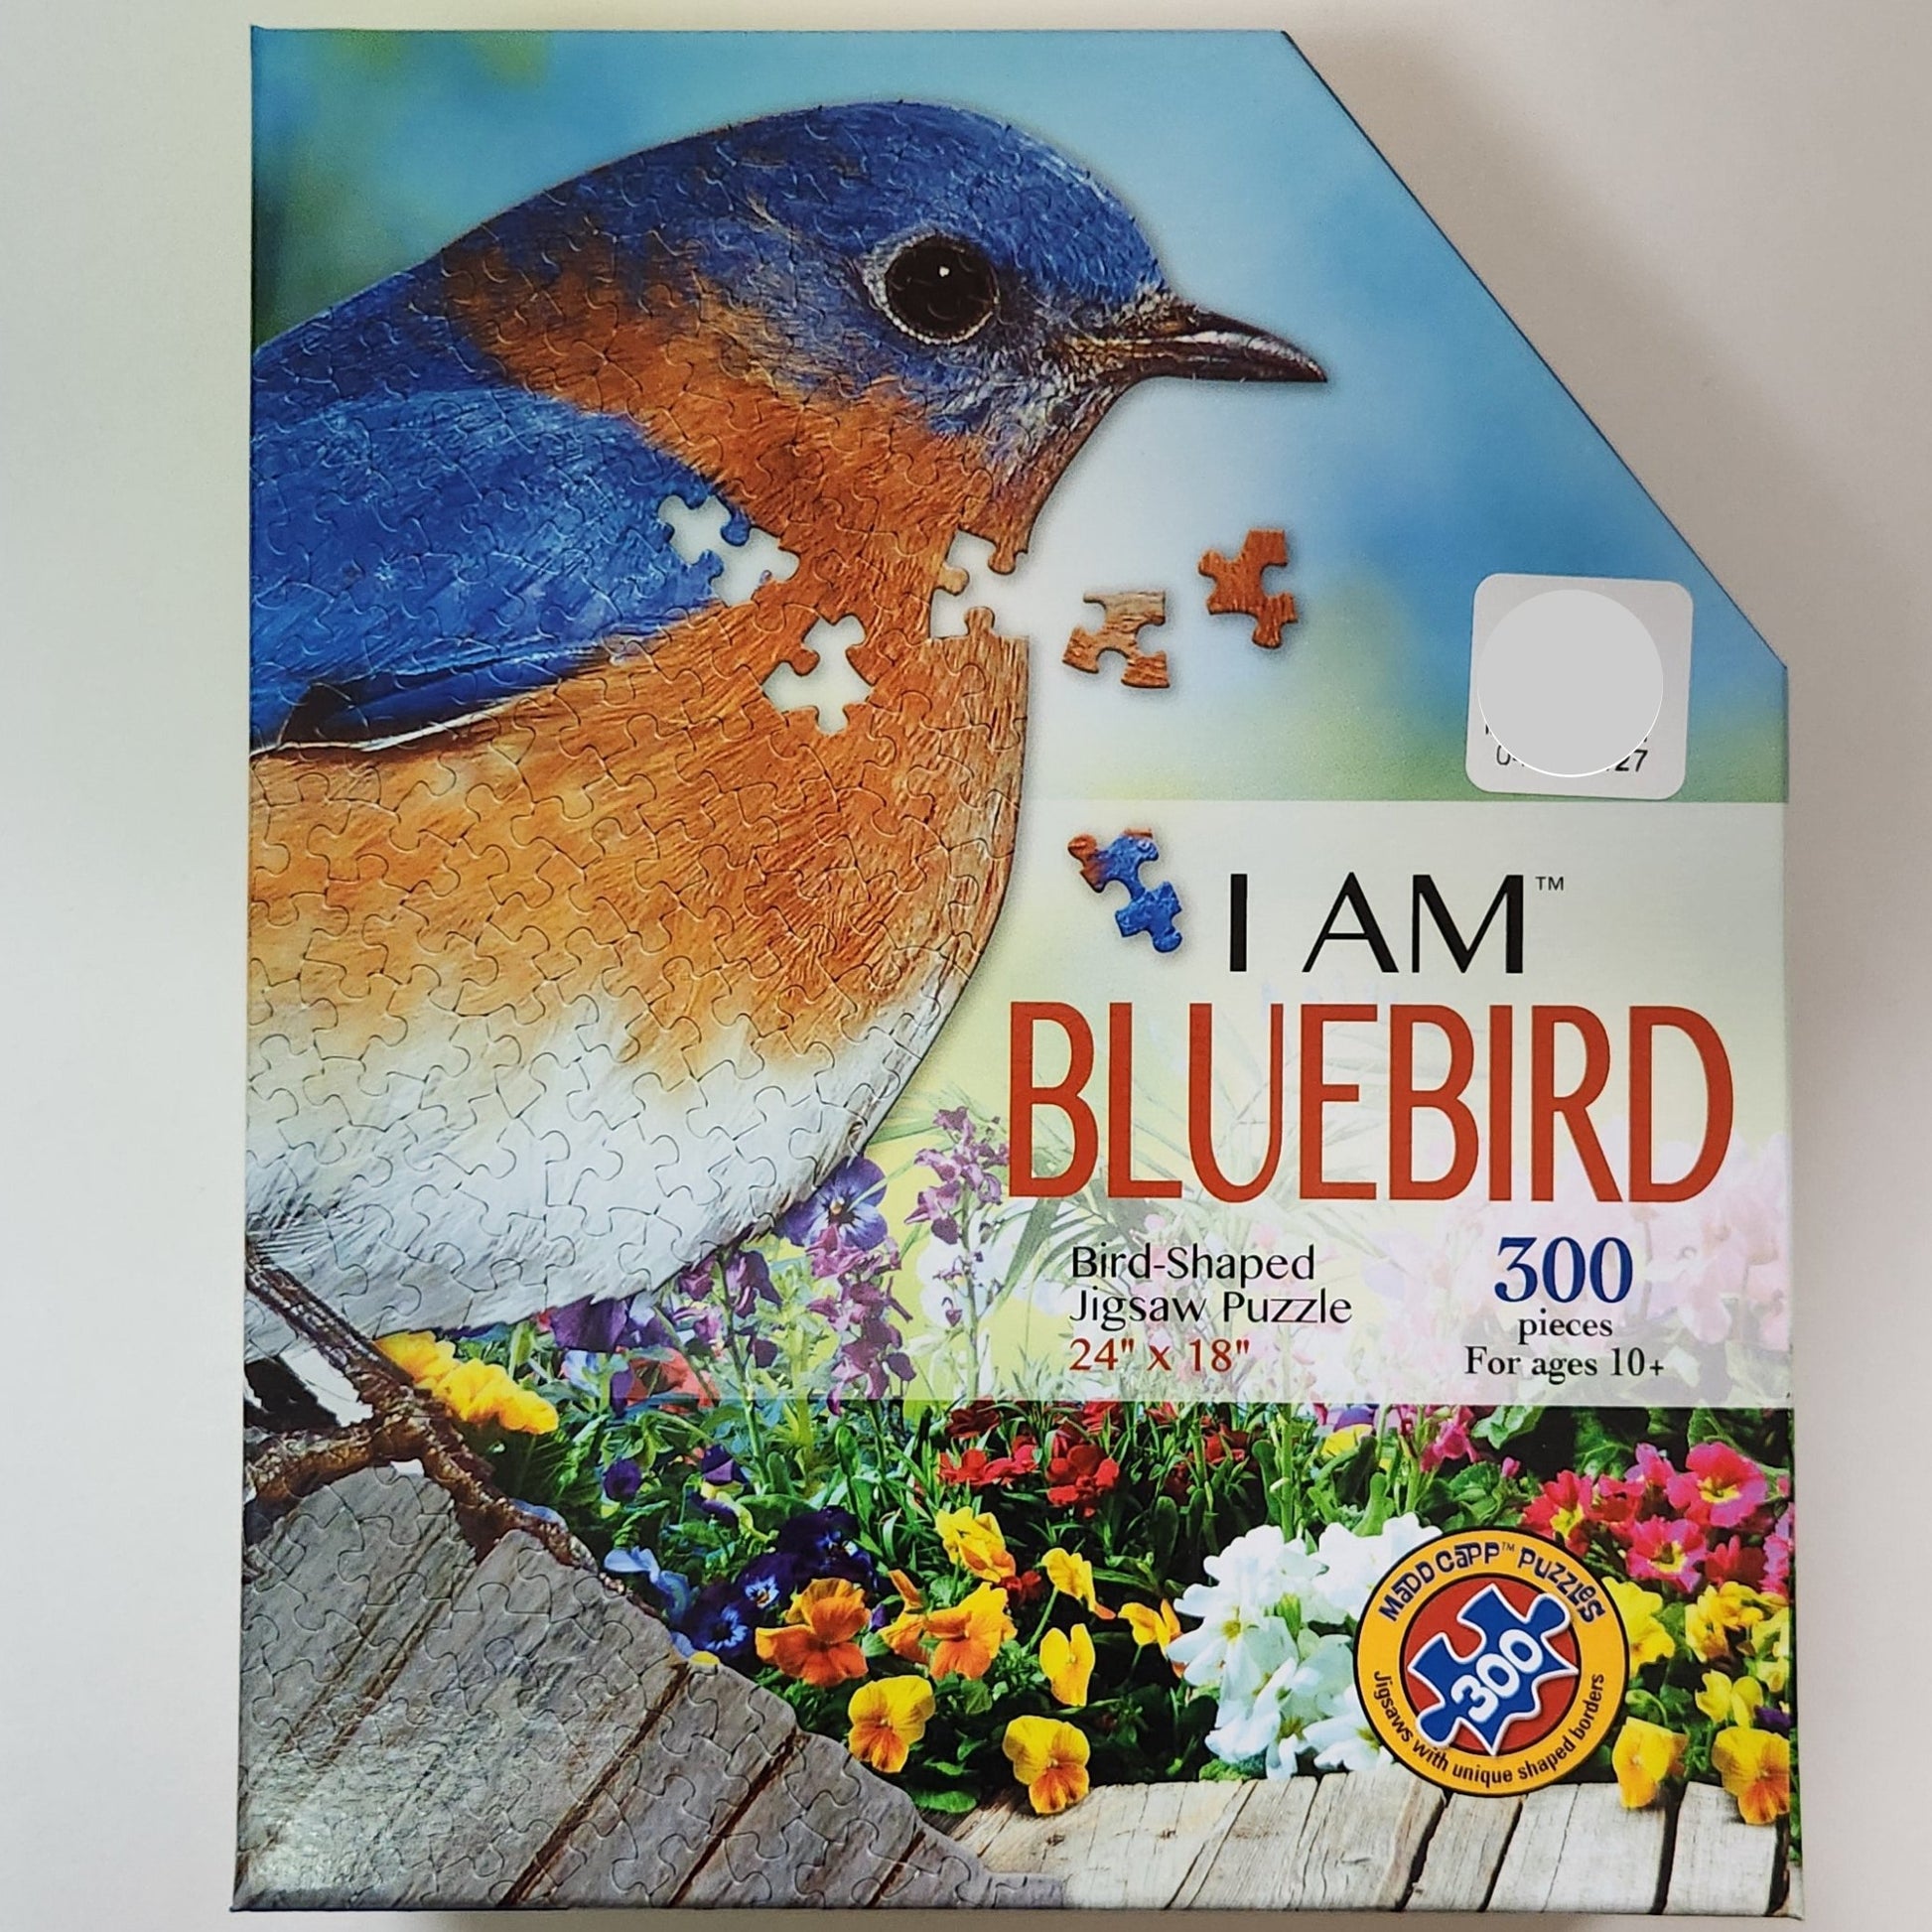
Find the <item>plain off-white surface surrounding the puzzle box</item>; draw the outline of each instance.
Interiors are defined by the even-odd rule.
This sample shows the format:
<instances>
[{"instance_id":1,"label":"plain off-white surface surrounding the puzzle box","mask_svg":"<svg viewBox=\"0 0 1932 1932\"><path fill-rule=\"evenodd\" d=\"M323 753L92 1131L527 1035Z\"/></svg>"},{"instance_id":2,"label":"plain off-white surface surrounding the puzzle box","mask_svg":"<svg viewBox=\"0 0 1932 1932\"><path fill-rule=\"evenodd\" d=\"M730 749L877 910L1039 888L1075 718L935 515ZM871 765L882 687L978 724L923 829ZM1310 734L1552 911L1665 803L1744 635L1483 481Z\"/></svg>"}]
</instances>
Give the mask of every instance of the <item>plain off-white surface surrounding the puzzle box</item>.
<instances>
[{"instance_id":1,"label":"plain off-white surface surrounding the puzzle box","mask_svg":"<svg viewBox=\"0 0 1932 1932\"><path fill-rule=\"evenodd\" d=\"M209 1928L228 1891L247 17L14 0L0 50L0 1922L35 1932ZM1832 1932L1932 1920L1932 15L255 17L1296 33L1791 665L1806 1895Z\"/></svg>"}]
</instances>

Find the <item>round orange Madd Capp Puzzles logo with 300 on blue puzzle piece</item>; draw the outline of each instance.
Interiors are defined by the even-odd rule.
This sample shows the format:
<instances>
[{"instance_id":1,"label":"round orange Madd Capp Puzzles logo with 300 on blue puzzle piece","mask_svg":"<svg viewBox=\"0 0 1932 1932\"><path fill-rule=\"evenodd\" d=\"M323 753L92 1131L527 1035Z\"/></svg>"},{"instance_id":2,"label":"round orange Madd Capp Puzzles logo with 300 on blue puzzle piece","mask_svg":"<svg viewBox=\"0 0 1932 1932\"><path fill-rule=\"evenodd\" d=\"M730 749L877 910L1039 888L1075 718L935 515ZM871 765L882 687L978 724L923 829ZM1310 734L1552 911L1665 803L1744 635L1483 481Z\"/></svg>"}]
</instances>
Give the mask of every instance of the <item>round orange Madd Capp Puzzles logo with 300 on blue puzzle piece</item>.
<instances>
[{"instance_id":1,"label":"round orange Madd Capp Puzzles logo with 300 on blue puzzle piece","mask_svg":"<svg viewBox=\"0 0 1932 1932\"><path fill-rule=\"evenodd\" d=\"M1451 1791L1534 1791L1578 1770L1623 1704L1609 1592L1557 1544L1437 1536L1370 1594L1354 1675L1389 1752Z\"/></svg>"}]
</instances>

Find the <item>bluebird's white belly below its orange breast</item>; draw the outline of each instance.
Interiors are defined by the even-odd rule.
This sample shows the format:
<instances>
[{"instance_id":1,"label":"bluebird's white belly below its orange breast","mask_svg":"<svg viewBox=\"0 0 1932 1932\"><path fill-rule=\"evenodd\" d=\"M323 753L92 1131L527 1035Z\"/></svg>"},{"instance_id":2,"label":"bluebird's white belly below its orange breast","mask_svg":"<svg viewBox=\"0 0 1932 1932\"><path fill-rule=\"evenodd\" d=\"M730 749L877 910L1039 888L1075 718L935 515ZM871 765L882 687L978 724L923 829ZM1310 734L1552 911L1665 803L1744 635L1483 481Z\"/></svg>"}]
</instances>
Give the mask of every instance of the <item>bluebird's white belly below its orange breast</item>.
<instances>
[{"instance_id":1,"label":"bluebird's white belly below its orange breast","mask_svg":"<svg viewBox=\"0 0 1932 1932\"><path fill-rule=\"evenodd\" d=\"M251 1037L249 1236L365 1335L636 1294L862 1146L947 1007L931 983L837 1061L715 1034L694 1068L626 1057L593 999L537 1030L425 1005L355 1059L278 1005ZM251 1304L249 1350L282 1341Z\"/></svg>"}]
</instances>

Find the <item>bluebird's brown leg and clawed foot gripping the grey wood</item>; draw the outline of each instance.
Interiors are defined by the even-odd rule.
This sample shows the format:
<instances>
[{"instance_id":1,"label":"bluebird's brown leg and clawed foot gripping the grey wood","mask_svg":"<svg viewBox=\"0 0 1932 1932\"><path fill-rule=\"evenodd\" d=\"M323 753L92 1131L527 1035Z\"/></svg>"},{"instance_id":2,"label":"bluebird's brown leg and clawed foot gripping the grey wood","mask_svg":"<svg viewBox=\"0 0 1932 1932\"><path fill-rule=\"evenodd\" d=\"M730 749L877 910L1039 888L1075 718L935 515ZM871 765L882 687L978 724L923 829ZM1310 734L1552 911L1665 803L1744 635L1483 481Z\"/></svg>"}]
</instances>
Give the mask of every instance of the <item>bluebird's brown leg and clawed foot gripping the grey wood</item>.
<instances>
[{"instance_id":1,"label":"bluebird's brown leg and clawed foot gripping the grey wood","mask_svg":"<svg viewBox=\"0 0 1932 1932\"><path fill-rule=\"evenodd\" d=\"M259 1511L282 1515L357 1470L417 1463L448 1495L456 1524L477 1557L520 1530L558 1563L595 1573L589 1553L562 1522L512 1503L495 1486L489 1464L427 1389L417 1389L365 1335L253 1248L247 1289L340 1370L369 1405L369 1416L359 1422L284 1430L251 1449L247 1472Z\"/></svg>"}]
</instances>

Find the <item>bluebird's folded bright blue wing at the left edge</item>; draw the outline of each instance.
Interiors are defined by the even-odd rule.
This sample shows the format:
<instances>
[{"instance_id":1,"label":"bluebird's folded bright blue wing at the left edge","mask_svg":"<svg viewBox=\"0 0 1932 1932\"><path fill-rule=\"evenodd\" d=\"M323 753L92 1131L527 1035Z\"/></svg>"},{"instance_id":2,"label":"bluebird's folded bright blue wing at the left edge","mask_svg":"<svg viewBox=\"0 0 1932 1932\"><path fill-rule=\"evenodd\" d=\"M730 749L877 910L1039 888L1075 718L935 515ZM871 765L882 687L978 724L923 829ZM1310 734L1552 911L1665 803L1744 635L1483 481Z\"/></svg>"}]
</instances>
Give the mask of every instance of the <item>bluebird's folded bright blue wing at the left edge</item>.
<instances>
[{"instance_id":1,"label":"bluebird's folded bright blue wing at the left edge","mask_svg":"<svg viewBox=\"0 0 1932 1932\"><path fill-rule=\"evenodd\" d=\"M276 402L253 448L255 748L454 724L711 601L717 558L684 562L657 514L711 487L622 417L508 386Z\"/></svg>"}]
</instances>

